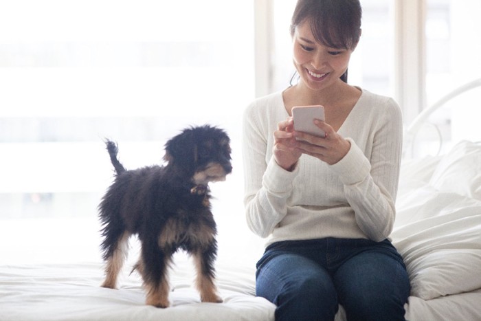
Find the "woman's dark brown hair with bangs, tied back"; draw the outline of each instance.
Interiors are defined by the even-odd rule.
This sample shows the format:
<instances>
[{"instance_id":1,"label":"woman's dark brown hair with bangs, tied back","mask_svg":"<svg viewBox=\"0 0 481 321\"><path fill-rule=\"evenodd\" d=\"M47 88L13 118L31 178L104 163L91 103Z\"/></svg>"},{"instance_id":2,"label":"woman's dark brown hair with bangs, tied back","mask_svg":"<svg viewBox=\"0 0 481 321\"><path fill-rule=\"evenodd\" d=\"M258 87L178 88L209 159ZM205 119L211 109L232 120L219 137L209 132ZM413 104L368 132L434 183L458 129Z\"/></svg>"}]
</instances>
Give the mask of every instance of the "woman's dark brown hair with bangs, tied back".
<instances>
[{"instance_id":1,"label":"woman's dark brown hair with bangs, tied back","mask_svg":"<svg viewBox=\"0 0 481 321\"><path fill-rule=\"evenodd\" d=\"M291 19L291 36L309 21L315 41L338 49L355 49L361 36L359 0L298 0ZM347 82L347 71L342 75Z\"/></svg>"}]
</instances>

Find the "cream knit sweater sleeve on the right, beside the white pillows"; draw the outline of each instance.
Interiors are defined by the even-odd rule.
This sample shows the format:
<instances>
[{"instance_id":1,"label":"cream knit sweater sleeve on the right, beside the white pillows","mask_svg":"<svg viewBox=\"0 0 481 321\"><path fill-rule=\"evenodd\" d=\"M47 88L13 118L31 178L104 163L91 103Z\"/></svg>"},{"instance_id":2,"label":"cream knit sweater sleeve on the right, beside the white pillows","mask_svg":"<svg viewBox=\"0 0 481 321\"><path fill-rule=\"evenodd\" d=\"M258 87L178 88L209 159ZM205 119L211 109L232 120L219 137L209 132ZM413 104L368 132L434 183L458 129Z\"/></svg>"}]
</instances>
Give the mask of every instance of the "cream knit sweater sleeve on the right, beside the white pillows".
<instances>
[{"instance_id":1,"label":"cream knit sweater sleeve on the right, beside the white pillows","mask_svg":"<svg viewBox=\"0 0 481 321\"><path fill-rule=\"evenodd\" d=\"M394 225L402 135L401 110L394 100L389 100L375 126L370 159L353 139L347 138L350 151L330 166L344 184L357 225L373 241L387 238Z\"/></svg>"}]
</instances>

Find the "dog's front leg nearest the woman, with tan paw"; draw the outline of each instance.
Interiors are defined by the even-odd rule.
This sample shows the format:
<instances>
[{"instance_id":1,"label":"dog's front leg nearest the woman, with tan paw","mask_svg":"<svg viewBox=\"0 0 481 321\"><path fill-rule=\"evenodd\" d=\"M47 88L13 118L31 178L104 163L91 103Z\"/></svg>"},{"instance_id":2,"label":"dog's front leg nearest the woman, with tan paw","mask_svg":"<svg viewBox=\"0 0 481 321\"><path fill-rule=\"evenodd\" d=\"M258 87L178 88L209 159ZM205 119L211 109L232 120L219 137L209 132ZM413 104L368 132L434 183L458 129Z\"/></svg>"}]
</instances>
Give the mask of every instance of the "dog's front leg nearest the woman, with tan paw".
<instances>
[{"instance_id":1,"label":"dog's front leg nearest the woman, with tan paw","mask_svg":"<svg viewBox=\"0 0 481 321\"><path fill-rule=\"evenodd\" d=\"M214 285L214 258L216 245L212 243L207 250L197 250L194 253L194 262L197 269L197 289L201 294L202 302L222 302L222 298L216 294Z\"/></svg>"}]
</instances>

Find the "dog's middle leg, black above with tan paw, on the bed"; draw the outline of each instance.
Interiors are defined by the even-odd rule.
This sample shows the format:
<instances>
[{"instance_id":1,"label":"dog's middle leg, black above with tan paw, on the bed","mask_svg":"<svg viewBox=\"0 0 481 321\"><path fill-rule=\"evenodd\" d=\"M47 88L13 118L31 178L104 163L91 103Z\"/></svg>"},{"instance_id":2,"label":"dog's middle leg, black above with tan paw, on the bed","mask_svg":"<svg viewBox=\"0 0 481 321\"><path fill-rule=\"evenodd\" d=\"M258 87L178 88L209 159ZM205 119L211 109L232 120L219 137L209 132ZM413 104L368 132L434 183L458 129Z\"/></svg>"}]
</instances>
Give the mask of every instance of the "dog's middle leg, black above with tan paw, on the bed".
<instances>
[{"instance_id":1,"label":"dog's middle leg, black above with tan paw, on the bed","mask_svg":"<svg viewBox=\"0 0 481 321\"><path fill-rule=\"evenodd\" d=\"M142 258L139 263L139 272L144 280L146 290L146 304L154 307L166 308L169 306L168 294L168 266L171 256L164 253L157 242L142 242Z\"/></svg>"}]
</instances>

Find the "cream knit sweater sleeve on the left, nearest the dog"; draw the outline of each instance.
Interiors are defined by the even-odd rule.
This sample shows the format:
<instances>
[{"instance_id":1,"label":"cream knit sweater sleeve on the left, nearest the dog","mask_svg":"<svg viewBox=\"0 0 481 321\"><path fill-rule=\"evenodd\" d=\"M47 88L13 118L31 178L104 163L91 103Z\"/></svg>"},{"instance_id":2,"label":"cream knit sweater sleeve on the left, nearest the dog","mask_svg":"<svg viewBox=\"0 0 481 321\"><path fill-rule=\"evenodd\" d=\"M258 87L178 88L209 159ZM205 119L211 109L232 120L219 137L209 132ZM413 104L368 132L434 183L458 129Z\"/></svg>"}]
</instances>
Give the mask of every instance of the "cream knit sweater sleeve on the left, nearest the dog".
<instances>
[{"instance_id":1,"label":"cream knit sweater sleeve on the left, nearest the dog","mask_svg":"<svg viewBox=\"0 0 481 321\"><path fill-rule=\"evenodd\" d=\"M244 204L250 230L267 237L287 214L287 199L298 168L288 172L273 157L267 158L269 129L260 124L256 112L249 108L243 116Z\"/></svg>"}]
</instances>

